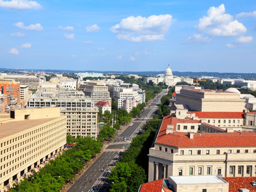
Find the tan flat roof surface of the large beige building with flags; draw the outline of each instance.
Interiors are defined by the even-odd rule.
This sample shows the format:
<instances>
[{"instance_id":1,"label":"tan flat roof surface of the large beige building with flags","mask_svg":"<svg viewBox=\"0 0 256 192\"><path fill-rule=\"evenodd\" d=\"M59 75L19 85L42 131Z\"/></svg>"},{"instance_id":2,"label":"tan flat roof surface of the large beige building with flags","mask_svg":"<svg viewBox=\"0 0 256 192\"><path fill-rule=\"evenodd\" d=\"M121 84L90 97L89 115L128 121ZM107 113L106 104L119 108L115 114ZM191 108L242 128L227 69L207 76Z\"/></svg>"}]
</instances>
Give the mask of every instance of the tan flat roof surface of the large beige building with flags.
<instances>
[{"instance_id":1,"label":"tan flat roof surface of the large beige building with flags","mask_svg":"<svg viewBox=\"0 0 256 192\"><path fill-rule=\"evenodd\" d=\"M35 120L10 121L10 122L0 124L0 139L10 136L12 134L17 134L18 132L22 132L24 130L30 129L34 126L44 124L48 121L58 119L60 117L35 119Z\"/></svg>"}]
</instances>

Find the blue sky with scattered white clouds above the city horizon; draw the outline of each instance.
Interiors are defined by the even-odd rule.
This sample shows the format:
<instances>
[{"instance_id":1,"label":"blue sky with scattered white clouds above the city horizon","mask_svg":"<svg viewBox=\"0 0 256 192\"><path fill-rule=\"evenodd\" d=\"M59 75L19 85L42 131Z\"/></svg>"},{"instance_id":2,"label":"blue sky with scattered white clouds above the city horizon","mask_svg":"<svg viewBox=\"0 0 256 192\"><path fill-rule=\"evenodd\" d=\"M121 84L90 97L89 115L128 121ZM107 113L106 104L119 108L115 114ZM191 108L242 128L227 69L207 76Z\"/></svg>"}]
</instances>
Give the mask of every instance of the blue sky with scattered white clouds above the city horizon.
<instances>
[{"instance_id":1,"label":"blue sky with scattered white clouds above the city horizon","mask_svg":"<svg viewBox=\"0 0 256 192\"><path fill-rule=\"evenodd\" d=\"M254 0L0 0L0 67L256 72Z\"/></svg>"}]
</instances>

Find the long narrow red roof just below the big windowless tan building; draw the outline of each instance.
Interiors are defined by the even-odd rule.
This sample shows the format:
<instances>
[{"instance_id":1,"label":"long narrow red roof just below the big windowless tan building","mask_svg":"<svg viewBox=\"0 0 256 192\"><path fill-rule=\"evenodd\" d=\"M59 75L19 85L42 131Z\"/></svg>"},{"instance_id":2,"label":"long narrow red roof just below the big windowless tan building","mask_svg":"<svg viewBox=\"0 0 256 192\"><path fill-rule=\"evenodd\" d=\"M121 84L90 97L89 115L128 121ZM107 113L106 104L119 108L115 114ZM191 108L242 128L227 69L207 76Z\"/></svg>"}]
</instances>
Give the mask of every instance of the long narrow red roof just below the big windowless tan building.
<instances>
[{"instance_id":1,"label":"long narrow red roof just below the big windowless tan building","mask_svg":"<svg viewBox=\"0 0 256 192\"><path fill-rule=\"evenodd\" d=\"M244 112L193 112L198 118L244 118Z\"/></svg>"}]
</instances>

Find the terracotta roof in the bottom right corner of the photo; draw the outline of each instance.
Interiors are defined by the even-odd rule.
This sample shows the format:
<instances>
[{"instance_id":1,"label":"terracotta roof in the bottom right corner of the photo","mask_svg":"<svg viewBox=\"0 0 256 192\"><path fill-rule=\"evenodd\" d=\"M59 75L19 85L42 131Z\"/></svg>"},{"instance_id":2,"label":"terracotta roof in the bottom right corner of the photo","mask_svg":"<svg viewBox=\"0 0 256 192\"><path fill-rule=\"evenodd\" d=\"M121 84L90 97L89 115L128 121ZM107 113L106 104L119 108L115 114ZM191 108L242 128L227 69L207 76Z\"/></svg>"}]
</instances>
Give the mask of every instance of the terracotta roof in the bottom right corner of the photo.
<instances>
[{"instance_id":1,"label":"terracotta roof in the bottom right corner of the photo","mask_svg":"<svg viewBox=\"0 0 256 192\"><path fill-rule=\"evenodd\" d=\"M256 177L222 177L222 179L229 183L228 192L238 192L240 188L256 192L256 187L251 185L252 181L256 181Z\"/></svg>"}]
</instances>

